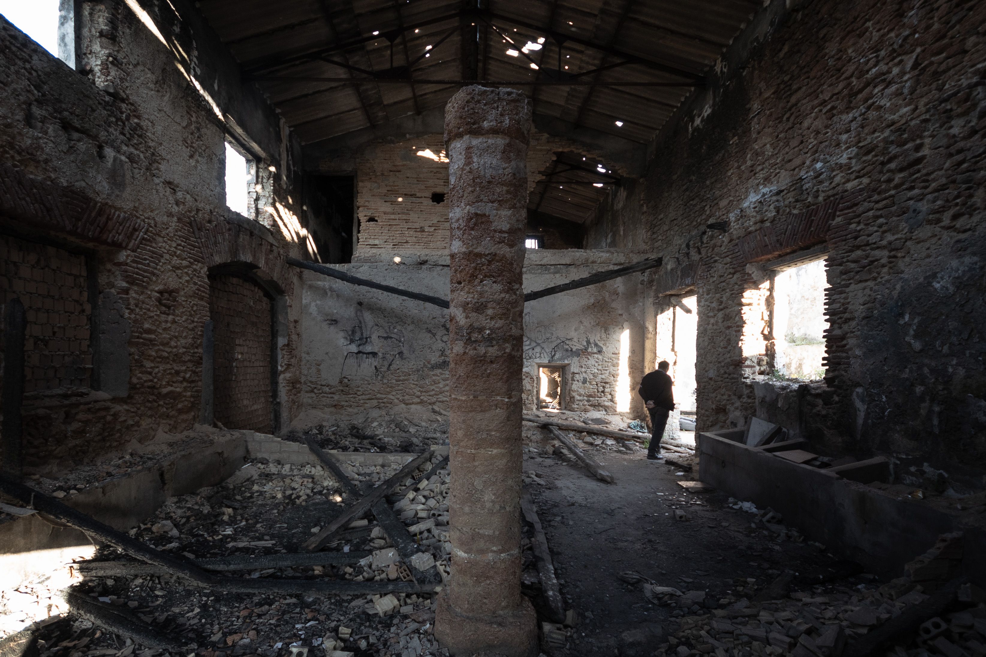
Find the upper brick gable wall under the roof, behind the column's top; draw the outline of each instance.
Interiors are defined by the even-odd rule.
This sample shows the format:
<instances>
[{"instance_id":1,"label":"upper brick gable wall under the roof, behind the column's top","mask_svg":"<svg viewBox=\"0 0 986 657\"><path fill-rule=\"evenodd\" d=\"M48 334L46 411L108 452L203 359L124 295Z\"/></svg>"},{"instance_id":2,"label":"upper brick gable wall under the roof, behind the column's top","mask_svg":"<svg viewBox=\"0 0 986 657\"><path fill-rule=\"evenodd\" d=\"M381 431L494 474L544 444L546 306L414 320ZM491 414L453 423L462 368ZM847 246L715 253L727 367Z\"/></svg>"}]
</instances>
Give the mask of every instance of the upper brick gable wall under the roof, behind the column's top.
<instances>
[{"instance_id":1,"label":"upper brick gable wall under the roof, behind the column's top","mask_svg":"<svg viewBox=\"0 0 986 657\"><path fill-rule=\"evenodd\" d=\"M567 140L533 133L528 192L559 151L596 157ZM432 201L434 192L444 194L449 188L444 135L378 143L362 150L356 161L356 185L360 232L354 261L371 261L381 254L448 253L449 206Z\"/></svg>"}]
</instances>

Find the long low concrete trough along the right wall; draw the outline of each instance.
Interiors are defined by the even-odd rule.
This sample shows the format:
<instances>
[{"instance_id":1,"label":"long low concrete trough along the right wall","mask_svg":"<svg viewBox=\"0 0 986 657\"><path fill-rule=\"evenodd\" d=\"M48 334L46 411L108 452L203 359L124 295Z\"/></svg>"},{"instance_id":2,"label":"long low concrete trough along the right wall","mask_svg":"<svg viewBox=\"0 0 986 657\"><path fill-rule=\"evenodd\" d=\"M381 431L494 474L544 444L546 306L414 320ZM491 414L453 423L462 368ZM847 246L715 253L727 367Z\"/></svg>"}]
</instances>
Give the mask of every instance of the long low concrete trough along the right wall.
<instances>
[{"instance_id":1,"label":"long low concrete trough along the right wall","mask_svg":"<svg viewBox=\"0 0 986 657\"><path fill-rule=\"evenodd\" d=\"M742 429L698 434L703 483L773 508L811 541L885 577L900 576L904 564L930 549L940 534L962 531L963 569L980 585L986 580L986 514L950 513L794 463L742 444L742 434Z\"/></svg>"}]
</instances>

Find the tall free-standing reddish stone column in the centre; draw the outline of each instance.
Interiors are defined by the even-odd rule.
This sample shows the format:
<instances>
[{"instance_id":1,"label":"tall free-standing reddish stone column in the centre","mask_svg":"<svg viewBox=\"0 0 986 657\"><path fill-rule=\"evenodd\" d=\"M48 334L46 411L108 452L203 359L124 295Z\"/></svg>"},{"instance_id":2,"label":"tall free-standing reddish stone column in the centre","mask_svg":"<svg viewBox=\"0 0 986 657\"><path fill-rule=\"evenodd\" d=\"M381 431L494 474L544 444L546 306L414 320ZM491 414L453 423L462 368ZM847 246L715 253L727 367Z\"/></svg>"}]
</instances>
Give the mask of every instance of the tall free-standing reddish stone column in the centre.
<instances>
[{"instance_id":1,"label":"tall free-standing reddish stone column in the centre","mask_svg":"<svg viewBox=\"0 0 986 657\"><path fill-rule=\"evenodd\" d=\"M521 594L529 129L528 99L514 90L466 87L446 106L453 553L435 635L457 657L537 654Z\"/></svg>"}]
</instances>

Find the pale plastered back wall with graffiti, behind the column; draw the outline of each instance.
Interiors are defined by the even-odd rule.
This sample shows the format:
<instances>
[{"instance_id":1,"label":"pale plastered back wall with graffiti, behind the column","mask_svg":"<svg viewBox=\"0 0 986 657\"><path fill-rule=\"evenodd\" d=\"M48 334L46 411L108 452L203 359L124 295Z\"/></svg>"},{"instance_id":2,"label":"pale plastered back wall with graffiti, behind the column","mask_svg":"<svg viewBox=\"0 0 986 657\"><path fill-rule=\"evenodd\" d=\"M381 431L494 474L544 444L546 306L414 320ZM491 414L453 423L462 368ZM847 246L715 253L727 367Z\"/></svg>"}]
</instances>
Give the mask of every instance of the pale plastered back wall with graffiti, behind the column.
<instances>
[{"instance_id":1,"label":"pale plastered back wall with graffiti, behind the column","mask_svg":"<svg viewBox=\"0 0 986 657\"><path fill-rule=\"evenodd\" d=\"M528 250L525 291L541 290L641 260L620 250ZM337 265L349 274L447 298L447 255L404 254L401 264ZM620 344L627 349L628 411L642 415L636 388L653 323L642 320L646 275L528 301L525 310L526 409L536 408L538 363L567 365L566 408L617 410ZM306 272L303 292L305 411L347 418L366 409L442 422L449 398L448 311ZM653 353L652 357L653 359ZM476 376L482 377L477 371ZM434 409L434 411L432 410ZM422 413L423 412L423 413ZM429 414L431 414L429 416Z\"/></svg>"}]
</instances>

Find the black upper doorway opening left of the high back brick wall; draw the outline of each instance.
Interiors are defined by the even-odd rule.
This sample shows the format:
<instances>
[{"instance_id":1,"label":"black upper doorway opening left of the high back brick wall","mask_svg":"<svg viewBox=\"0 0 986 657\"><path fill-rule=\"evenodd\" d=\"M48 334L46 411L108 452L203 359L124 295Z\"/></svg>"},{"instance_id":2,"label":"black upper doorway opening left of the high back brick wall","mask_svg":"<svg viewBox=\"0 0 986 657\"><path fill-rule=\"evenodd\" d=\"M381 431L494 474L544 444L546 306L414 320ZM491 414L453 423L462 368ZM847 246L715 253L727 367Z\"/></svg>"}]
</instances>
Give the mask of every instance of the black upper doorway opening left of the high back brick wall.
<instances>
[{"instance_id":1,"label":"black upper doorway opening left of the high back brick wall","mask_svg":"<svg viewBox=\"0 0 986 657\"><path fill-rule=\"evenodd\" d=\"M309 175L302 226L310 242L304 246L313 262L352 262L356 178L352 175Z\"/></svg>"}]
</instances>

